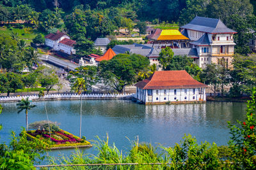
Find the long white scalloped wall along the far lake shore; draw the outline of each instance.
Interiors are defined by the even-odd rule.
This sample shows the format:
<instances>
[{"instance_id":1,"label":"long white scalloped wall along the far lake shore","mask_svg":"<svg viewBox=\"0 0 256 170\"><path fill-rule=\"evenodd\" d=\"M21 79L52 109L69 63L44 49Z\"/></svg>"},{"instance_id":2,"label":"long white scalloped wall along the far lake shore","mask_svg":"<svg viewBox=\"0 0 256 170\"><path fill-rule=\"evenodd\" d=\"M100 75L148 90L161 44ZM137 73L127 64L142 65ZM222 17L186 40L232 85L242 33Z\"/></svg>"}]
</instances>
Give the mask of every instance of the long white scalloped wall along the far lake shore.
<instances>
[{"instance_id":1,"label":"long white scalloped wall along the far lake shore","mask_svg":"<svg viewBox=\"0 0 256 170\"><path fill-rule=\"evenodd\" d=\"M134 94L82 94L82 99L132 99ZM1 102L17 102L21 99L29 97L31 101L47 101L47 100L77 100L81 99L79 94L48 94L44 97L33 96L12 96L0 97Z\"/></svg>"}]
</instances>

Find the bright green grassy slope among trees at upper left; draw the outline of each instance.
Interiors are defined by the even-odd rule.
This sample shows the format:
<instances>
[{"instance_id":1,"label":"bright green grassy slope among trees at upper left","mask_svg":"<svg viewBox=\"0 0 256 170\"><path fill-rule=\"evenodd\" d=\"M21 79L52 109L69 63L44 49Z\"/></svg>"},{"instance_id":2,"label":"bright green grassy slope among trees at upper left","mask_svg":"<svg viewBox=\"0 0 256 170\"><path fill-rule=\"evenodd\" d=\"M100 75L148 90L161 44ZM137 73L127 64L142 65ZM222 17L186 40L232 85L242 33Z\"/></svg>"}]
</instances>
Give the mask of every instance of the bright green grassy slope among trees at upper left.
<instances>
[{"instance_id":1,"label":"bright green grassy slope among trees at upper left","mask_svg":"<svg viewBox=\"0 0 256 170\"><path fill-rule=\"evenodd\" d=\"M11 35L12 31L17 32L21 39L24 39L27 43L30 43L30 42L32 42L33 38L35 38L38 34L42 33L42 32L39 32L37 30L33 30L33 32L31 32L30 34L26 34L24 32L25 28L26 27L24 27L23 29L19 29L19 28L12 28L12 29L9 28L8 29L7 27L0 27L0 34Z\"/></svg>"}]
</instances>

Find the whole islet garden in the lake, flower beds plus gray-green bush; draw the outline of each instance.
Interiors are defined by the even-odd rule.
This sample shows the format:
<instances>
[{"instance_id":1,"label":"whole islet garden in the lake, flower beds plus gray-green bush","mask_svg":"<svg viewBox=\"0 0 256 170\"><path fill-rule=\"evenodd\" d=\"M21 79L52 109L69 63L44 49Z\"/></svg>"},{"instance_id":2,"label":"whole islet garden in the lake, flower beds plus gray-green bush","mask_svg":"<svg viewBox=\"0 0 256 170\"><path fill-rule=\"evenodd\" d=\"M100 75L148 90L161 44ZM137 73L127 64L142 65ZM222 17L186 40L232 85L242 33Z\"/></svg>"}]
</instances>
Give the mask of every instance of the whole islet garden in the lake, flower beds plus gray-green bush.
<instances>
[{"instance_id":1,"label":"whole islet garden in the lake, flower beds plus gray-green bush","mask_svg":"<svg viewBox=\"0 0 256 170\"><path fill-rule=\"evenodd\" d=\"M58 127L56 122L47 122L46 120L40 122L34 122L29 124L29 129L36 129L26 131L26 136L32 140L40 140L47 145L49 149L61 149L61 148L76 148L76 147L90 147L90 142L86 141L86 138L79 138L70 134L67 131L63 131Z\"/></svg>"}]
</instances>

